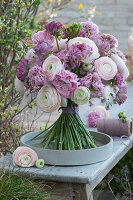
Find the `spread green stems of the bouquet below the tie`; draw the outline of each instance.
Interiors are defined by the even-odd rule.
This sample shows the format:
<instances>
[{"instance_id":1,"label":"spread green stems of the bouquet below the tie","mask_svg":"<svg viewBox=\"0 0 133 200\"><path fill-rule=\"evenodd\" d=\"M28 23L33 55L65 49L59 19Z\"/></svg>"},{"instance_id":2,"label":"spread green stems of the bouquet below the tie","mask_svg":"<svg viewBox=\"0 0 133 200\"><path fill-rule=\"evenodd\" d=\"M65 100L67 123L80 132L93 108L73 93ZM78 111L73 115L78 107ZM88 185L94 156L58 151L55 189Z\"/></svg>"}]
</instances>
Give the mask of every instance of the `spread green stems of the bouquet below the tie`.
<instances>
[{"instance_id":1,"label":"spread green stems of the bouquet below the tie","mask_svg":"<svg viewBox=\"0 0 133 200\"><path fill-rule=\"evenodd\" d=\"M77 113L62 112L50 128L36 137L42 133L45 134L42 140L42 143L45 143L45 149L51 142L54 142L55 150L80 150L96 147L94 139Z\"/></svg>"}]
</instances>

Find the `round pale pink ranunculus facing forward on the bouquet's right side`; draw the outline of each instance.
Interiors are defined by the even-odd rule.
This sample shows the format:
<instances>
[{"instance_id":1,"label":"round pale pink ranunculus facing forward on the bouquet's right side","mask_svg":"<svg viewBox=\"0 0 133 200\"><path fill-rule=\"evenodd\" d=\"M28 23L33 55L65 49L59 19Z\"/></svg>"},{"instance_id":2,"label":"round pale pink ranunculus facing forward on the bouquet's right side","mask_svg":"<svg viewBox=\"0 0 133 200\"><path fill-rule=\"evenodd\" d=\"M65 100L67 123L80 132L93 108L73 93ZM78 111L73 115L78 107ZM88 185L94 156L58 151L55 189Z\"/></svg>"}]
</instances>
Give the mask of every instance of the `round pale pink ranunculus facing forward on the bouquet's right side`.
<instances>
[{"instance_id":1,"label":"round pale pink ranunculus facing forward on the bouquet's right side","mask_svg":"<svg viewBox=\"0 0 133 200\"><path fill-rule=\"evenodd\" d=\"M95 68L99 76L104 80L113 79L117 73L117 65L109 57L101 57L95 61Z\"/></svg>"}]
</instances>

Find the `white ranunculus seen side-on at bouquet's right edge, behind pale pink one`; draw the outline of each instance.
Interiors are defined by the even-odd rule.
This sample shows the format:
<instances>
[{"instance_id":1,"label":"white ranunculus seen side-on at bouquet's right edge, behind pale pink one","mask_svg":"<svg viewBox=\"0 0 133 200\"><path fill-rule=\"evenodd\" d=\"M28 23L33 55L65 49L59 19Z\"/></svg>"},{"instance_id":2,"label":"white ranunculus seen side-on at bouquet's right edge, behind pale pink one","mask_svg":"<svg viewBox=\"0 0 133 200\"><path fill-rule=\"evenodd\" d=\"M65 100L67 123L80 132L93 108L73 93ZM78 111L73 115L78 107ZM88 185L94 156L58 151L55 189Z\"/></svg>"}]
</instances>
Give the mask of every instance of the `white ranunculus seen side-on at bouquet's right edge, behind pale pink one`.
<instances>
[{"instance_id":1,"label":"white ranunculus seen side-on at bouquet's right edge, behind pale pink one","mask_svg":"<svg viewBox=\"0 0 133 200\"><path fill-rule=\"evenodd\" d=\"M123 60L116 54L111 54L112 60L116 63L118 71L122 73L123 78L127 79L129 76L129 71Z\"/></svg>"}]
</instances>

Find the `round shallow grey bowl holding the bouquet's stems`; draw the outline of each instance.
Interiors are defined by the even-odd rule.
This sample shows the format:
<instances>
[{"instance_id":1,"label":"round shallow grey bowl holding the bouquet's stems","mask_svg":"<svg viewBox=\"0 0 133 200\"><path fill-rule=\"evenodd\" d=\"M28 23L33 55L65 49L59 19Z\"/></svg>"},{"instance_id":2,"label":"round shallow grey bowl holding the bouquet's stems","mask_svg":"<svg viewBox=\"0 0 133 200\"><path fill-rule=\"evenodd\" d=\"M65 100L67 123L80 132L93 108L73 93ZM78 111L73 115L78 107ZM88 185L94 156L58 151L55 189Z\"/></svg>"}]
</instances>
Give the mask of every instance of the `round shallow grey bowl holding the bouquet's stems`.
<instances>
[{"instance_id":1,"label":"round shallow grey bowl holding the bouquet's stems","mask_svg":"<svg viewBox=\"0 0 133 200\"><path fill-rule=\"evenodd\" d=\"M20 144L21 146L32 148L36 151L38 157L43 158L45 163L49 165L75 166L97 163L108 159L113 152L113 139L104 133L90 131L95 139L96 148L62 151L43 149L43 146L40 144L43 135L31 141L38 133L39 132L30 132L23 135L20 139Z\"/></svg>"}]
</instances>

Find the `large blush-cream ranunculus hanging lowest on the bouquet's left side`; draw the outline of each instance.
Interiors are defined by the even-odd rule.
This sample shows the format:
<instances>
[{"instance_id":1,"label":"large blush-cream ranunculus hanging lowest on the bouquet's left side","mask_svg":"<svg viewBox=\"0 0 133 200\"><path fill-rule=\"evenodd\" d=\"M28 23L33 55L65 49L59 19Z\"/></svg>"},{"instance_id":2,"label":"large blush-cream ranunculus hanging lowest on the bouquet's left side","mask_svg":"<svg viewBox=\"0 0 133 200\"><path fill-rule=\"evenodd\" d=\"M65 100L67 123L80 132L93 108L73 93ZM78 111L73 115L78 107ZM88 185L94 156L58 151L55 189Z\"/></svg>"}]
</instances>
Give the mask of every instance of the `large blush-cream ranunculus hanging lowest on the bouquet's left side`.
<instances>
[{"instance_id":1,"label":"large blush-cream ranunculus hanging lowest on the bouquet's left side","mask_svg":"<svg viewBox=\"0 0 133 200\"><path fill-rule=\"evenodd\" d=\"M46 85L39 90L36 102L44 112L53 112L59 108L61 96L54 86Z\"/></svg>"}]
</instances>

